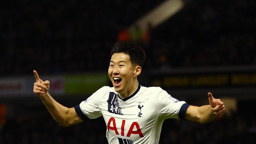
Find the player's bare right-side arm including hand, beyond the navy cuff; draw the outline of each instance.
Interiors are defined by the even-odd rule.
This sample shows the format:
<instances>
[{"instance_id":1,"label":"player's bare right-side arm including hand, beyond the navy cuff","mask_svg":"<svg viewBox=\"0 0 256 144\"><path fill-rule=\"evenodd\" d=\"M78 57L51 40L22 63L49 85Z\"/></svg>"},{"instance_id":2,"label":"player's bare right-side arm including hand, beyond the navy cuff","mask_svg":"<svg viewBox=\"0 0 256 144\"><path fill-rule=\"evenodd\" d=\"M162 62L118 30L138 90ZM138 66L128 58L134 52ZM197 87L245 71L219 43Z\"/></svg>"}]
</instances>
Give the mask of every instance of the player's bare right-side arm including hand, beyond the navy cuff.
<instances>
[{"instance_id":1,"label":"player's bare right-side arm including hand, beyond the navy cuff","mask_svg":"<svg viewBox=\"0 0 256 144\"><path fill-rule=\"evenodd\" d=\"M189 106L185 115L187 120L207 123L212 121L218 114L225 110L224 103L220 99L213 98L211 93L208 93L209 104L201 107Z\"/></svg>"}]
</instances>

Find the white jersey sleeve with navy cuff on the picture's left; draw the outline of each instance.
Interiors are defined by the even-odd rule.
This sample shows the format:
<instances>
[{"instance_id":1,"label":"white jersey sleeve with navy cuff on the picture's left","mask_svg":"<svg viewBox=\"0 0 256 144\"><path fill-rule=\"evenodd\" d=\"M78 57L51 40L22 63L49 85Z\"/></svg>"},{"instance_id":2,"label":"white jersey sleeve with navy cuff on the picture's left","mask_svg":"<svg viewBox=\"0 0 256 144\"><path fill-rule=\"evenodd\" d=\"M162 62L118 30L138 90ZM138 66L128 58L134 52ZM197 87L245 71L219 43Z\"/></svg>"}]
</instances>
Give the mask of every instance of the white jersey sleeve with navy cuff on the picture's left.
<instances>
[{"instance_id":1,"label":"white jersey sleeve with navy cuff on the picture's left","mask_svg":"<svg viewBox=\"0 0 256 144\"><path fill-rule=\"evenodd\" d=\"M85 121L88 117L89 119L95 119L102 116L100 110L100 100L103 98L106 92L97 91L92 94L85 101L82 101L79 105L75 106L75 111L77 115Z\"/></svg>"}]
</instances>

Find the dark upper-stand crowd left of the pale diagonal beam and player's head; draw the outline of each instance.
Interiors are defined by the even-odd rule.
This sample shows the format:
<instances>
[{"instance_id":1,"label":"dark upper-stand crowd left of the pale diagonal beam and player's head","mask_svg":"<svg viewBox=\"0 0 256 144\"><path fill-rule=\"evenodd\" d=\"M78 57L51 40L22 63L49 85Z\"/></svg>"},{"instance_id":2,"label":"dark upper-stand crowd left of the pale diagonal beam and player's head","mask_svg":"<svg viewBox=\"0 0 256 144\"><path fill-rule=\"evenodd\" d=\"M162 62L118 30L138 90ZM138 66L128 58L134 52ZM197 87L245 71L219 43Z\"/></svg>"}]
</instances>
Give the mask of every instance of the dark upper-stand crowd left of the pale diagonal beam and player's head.
<instances>
[{"instance_id":1,"label":"dark upper-stand crowd left of the pale diagonal beam and player's head","mask_svg":"<svg viewBox=\"0 0 256 144\"><path fill-rule=\"evenodd\" d=\"M161 1L4 1L0 74L106 70L118 31Z\"/></svg>"}]
</instances>

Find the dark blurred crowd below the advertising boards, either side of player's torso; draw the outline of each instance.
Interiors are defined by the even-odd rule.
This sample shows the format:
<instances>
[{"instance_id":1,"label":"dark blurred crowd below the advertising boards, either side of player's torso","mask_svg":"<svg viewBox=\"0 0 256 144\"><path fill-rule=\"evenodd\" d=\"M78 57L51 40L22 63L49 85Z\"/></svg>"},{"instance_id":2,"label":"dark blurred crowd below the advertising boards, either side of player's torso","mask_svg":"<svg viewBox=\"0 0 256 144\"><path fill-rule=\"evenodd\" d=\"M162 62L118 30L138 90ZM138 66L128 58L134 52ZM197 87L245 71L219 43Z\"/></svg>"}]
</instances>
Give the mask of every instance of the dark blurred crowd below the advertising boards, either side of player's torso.
<instances>
[{"instance_id":1,"label":"dark blurred crowd below the advertising boards, either side of player's torso","mask_svg":"<svg viewBox=\"0 0 256 144\"><path fill-rule=\"evenodd\" d=\"M106 144L106 125L102 117L61 127L46 108L37 113L10 119L2 127L1 144ZM253 110L227 112L207 124L167 119L159 144L255 144L256 115Z\"/></svg>"}]
</instances>

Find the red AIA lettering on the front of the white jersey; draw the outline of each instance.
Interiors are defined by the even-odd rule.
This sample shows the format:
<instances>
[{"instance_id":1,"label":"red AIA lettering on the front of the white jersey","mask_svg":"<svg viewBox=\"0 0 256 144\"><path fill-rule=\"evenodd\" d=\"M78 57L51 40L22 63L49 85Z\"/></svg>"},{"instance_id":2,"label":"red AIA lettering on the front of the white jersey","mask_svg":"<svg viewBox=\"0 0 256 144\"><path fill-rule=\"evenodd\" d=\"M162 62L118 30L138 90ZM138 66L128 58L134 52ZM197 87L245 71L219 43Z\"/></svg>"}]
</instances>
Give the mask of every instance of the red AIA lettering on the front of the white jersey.
<instances>
[{"instance_id":1,"label":"red AIA lettering on the front of the white jersey","mask_svg":"<svg viewBox=\"0 0 256 144\"><path fill-rule=\"evenodd\" d=\"M124 136L124 126L125 126L125 120L122 120L121 136ZM133 130L134 127L136 127L136 131ZM116 135L119 135L119 132L118 132L117 127L116 127L116 120L115 120L115 118L111 117L108 120L107 128L108 128L108 131L109 130L113 130L113 131L115 131ZM140 126L139 126L139 124L137 122L133 122L131 124L126 137L130 137L131 134L138 134L140 137L144 137L142 132L141 132Z\"/></svg>"}]
</instances>

